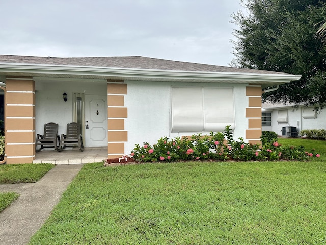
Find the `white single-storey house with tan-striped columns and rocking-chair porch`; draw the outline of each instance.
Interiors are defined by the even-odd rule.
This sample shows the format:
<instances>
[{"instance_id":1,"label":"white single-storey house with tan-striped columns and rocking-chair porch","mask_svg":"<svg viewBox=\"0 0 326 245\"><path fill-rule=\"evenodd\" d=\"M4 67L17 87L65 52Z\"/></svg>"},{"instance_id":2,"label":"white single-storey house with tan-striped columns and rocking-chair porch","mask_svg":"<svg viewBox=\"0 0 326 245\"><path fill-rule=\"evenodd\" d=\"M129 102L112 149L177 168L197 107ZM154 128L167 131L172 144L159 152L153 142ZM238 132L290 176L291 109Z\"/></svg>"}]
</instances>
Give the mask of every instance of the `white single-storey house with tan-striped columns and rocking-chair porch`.
<instances>
[{"instance_id":1,"label":"white single-storey house with tan-striped columns and rocking-chair porch","mask_svg":"<svg viewBox=\"0 0 326 245\"><path fill-rule=\"evenodd\" d=\"M140 56L0 55L7 163L33 162L47 122L57 122L59 134L79 122L85 147L107 147L108 158L226 125L235 139L259 143L262 90L300 77Z\"/></svg>"}]
</instances>

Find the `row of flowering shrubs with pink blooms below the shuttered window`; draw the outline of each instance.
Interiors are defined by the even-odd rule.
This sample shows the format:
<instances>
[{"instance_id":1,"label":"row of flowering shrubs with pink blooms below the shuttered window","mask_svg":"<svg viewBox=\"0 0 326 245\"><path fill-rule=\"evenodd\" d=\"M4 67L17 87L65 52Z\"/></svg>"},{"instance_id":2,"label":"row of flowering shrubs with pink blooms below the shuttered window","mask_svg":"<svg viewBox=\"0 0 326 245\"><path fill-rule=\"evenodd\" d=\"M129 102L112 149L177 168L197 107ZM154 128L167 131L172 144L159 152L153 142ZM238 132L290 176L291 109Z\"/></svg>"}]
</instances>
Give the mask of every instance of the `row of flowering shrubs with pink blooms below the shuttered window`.
<instances>
[{"instance_id":1,"label":"row of flowering shrubs with pink blooms below the shuttered window","mask_svg":"<svg viewBox=\"0 0 326 245\"><path fill-rule=\"evenodd\" d=\"M273 140L271 140L273 139ZM269 137L263 145L251 145L239 138L233 140L230 126L222 132L209 135L196 134L190 138L160 138L156 144L144 142L135 145L131 155L139 162L175 162L187 160L297 160L306 161L311 157L320 157L315 150L305 151L303 146L283 146L274 137Z\"/></svg>"}]
</instances>

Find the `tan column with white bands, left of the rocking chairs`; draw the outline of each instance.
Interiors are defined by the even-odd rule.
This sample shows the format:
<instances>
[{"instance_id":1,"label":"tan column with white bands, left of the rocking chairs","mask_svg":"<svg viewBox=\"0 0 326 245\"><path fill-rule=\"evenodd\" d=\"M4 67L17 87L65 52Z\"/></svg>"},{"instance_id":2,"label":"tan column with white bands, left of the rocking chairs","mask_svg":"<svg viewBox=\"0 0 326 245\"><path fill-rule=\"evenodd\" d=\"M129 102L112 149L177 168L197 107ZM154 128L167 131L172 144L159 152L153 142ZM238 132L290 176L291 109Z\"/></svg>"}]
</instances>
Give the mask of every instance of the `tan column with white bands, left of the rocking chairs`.
<instances>
[{"instance_id":1,"label":"tan column with white bands, left of the rocking chairs","mask_svg":"<svg viewBox=\"0 0 326 245\"><path fill-rule=\"evenodd\" d=\"M6 78L5 137L7 164L35 158L35 82L32 77Z\"/></svg>"}]
</instances>

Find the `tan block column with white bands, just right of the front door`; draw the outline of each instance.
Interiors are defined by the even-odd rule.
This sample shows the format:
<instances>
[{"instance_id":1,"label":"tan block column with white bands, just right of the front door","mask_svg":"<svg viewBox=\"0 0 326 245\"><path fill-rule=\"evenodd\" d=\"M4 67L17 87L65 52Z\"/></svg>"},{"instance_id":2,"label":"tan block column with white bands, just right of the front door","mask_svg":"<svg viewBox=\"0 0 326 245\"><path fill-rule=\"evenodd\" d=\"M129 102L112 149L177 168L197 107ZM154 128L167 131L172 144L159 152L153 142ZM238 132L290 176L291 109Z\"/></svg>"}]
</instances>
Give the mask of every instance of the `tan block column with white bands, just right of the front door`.
<instances>
[{"instance_id":1,"label":"tan block column with white bands, just right of the front door","mask_svg":"<svg viewBox=\"0 0 326 245\"><path fill-rule=\"evenodd\" d=\"M124 106L127 84L122 80L107 80L107 158L125 155L124 142L128 141L128 131L124 119L128 108Z\"/></svg>"}]
</instances>

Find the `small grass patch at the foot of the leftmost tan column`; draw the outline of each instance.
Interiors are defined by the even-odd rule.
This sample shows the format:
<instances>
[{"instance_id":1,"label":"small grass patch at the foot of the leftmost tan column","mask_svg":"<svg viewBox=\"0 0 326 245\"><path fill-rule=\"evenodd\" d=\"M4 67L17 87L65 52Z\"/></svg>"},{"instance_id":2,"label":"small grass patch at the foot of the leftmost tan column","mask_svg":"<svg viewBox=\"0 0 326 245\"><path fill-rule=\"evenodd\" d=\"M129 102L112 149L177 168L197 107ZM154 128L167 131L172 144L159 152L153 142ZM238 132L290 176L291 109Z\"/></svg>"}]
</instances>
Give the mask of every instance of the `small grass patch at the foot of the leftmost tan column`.
<instances>
[{"instance_id":1,"label":"small grass patch at the foot of the leftmost tan column","mask_svg":"<svg viewBox=\"0 0 326 245\"><path fill-rule=\"evenodd\" d=\"M0 165L0 184L35 183L53 164L4 164Z\"/></svg>"}]
</instances>

